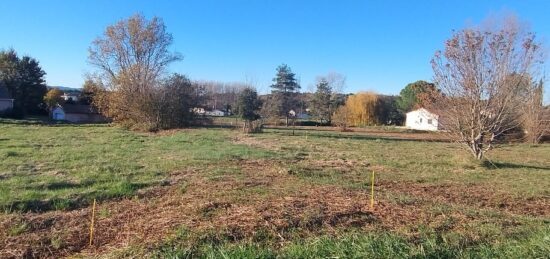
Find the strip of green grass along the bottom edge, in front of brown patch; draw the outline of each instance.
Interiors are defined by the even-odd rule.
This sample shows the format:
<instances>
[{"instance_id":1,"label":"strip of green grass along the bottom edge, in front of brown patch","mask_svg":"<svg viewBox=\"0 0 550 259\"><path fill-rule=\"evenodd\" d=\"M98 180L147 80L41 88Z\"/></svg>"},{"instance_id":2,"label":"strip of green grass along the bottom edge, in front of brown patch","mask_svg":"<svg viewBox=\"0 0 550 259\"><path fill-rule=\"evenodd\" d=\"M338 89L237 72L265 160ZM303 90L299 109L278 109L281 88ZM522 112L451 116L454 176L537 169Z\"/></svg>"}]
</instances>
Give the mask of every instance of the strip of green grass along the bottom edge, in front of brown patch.
<instances>
[{"instance_id":1,"label":"strip of green grass along the bottom edge, in front of brown patch","mask_svg":"<svg viewBox=\"0 0 550 259\"><path fill-rule=\"evenodd\" d=\"M475 240L459 233L424 230L405 238L388 232L352 231L295 240L282 248L262 243L223 240L191 241L188 231L162 245L157 258L545 258L550 254L550 228L512 239L510 236Z\"/></svg>"}]
</instances>

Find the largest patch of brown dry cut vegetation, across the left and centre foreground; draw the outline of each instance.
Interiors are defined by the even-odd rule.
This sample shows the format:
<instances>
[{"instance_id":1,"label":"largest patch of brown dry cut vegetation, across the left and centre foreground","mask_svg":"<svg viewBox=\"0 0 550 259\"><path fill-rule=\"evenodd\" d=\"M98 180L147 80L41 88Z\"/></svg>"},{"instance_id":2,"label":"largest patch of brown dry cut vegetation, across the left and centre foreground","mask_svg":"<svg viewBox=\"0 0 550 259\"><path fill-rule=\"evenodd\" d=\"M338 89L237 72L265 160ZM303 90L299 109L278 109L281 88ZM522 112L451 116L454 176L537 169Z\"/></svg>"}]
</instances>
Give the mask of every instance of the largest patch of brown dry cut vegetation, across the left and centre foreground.
<instances>
[{"instance_id":1,"label":"largest patch of brown dry cut vegetation, across the left and centre foreground","mask_svg":"<svg viewBox=\"0 0 550 259\"><path fill-rule=\"evenodd\" d=\"M268 161L239 162L254 176L243 181L211 181L200 172L173 175L167 186L142 192L133 199L98 204L93 245L89 246L91 208L73 211L0 215L0 258L59 258L78 253L98 254L131 244L152 245L181 225L193 231L217 231L228 238L251 238L258 229L284 241L290 232L307 235L336 228L389 228L414 222L418 208L380 202L369 211L366 193L336 187L304 186L279 192L292 181ZM182 182L185 189L182 190ZM272 188L268 196L234 197L247 188Z\"/></svg>"}]
</instances>

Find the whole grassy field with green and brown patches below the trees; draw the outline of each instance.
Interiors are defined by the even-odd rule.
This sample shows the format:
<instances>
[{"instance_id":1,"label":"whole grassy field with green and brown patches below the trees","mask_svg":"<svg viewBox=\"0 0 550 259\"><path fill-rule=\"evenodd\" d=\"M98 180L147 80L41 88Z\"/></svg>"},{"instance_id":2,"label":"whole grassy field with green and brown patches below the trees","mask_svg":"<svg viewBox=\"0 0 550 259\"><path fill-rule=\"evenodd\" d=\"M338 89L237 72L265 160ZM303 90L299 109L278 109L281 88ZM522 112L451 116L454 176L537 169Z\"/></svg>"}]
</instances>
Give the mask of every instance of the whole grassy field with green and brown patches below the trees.
<instances>
[{"instance_id":1,"label":"whole grassy field with green and brown patches below the trees","mask_svg":"<svg viewBox=\"0 0 550 259\"><path fill-rule=\"evenodd\" d=\"M0 120L0 258L548 258L550 145L422 139Z\"/></svg>"}]
</instances>

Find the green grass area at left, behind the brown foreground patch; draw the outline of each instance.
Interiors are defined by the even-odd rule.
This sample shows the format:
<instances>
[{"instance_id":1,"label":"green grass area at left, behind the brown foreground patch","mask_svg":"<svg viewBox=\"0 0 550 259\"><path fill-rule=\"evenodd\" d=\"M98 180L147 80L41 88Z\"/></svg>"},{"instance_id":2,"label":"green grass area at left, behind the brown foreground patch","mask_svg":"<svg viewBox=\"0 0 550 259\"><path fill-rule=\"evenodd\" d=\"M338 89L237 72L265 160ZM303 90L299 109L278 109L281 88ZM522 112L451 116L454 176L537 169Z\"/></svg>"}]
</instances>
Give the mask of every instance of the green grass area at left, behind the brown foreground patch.
<instances>
[{"instance_id":1,"label":"green grass area at left, behind the brown foreground patch","mask_svg":"<svg viewBox=\"0 0 550 259\"><path fill-rule=\"evenodd\" d=\"M0 208L44 211L131 197L176 170L265 158L221 129L147 135L108 125L0 121ZM29 125L30 124L30 125Z\"/></svg>"}]
</instances>

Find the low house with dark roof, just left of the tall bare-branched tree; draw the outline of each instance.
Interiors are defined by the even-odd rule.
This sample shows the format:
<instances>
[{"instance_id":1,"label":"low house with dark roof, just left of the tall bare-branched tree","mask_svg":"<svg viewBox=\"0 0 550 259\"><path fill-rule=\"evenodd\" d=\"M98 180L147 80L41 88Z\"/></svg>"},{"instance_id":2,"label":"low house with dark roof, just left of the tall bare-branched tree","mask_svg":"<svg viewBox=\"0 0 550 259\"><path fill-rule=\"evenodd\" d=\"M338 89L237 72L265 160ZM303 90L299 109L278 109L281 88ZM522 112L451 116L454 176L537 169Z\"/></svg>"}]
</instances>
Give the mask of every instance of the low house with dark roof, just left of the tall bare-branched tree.
<instances>
[{"instance_id":1,"label":"low house with dark roof, just left of the tall bare-branched tree","mask_svg":"<svg viewBox=\"0 0 550 259\"><path fill-rule=\"evenodd\" d=\"M53 120L74 123L101 123L108 121L93 106L83 104L59 105L52 110L51 115Z\"/></svg>"}]
</instances>

